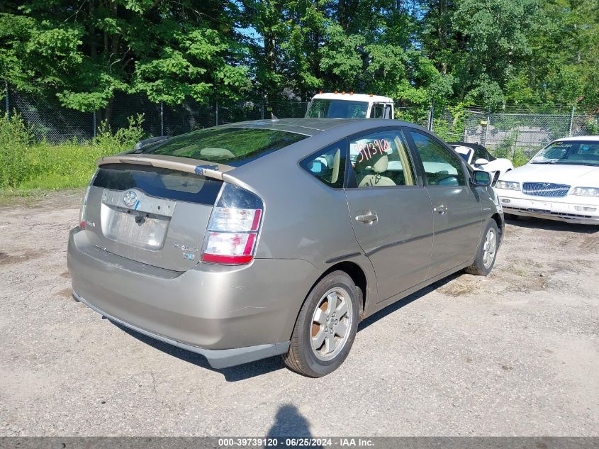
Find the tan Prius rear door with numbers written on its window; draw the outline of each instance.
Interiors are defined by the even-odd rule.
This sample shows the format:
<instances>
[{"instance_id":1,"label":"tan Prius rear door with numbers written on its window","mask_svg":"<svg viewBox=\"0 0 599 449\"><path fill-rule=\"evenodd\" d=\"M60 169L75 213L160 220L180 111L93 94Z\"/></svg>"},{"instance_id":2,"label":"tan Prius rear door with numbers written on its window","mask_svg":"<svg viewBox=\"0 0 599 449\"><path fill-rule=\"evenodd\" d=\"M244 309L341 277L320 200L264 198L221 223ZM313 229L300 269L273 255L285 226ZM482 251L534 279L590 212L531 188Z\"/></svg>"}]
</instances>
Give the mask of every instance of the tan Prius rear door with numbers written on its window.
<instances>
[{"instance_id":1,"label":"tan Prius rear door with numbers written on its window","mask_svg":"<svg viewBox=\"0 0 599 449\"><path fill-rule=\"evenodd\" d=\"M430 198L397 128L350 137L347 172L349 218L384 301L426 278L432 253Z\"/></svg>"}]
</instances>

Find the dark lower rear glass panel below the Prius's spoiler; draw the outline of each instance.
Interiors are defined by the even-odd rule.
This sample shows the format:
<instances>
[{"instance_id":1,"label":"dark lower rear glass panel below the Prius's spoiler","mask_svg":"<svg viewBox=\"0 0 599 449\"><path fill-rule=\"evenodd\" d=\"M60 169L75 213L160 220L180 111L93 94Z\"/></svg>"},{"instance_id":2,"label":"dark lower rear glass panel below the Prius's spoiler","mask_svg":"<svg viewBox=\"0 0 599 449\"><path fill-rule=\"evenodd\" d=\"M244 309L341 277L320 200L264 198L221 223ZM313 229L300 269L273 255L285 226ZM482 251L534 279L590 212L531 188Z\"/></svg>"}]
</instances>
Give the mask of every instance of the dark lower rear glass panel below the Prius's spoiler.
<instances>
[{"instance_id":1,"label":"dark lower rear glass panel below the Prius's spoiler","mask_svg":"<svg viewBox=\"0 0 599 449\"><path fill-rule=\"evenodd\" d=\"M139 189L159 198L213 205L221 184L218 179L150 165L106 164L101 165L92 185L111 190Z\"/></svg>"}]
</instances>

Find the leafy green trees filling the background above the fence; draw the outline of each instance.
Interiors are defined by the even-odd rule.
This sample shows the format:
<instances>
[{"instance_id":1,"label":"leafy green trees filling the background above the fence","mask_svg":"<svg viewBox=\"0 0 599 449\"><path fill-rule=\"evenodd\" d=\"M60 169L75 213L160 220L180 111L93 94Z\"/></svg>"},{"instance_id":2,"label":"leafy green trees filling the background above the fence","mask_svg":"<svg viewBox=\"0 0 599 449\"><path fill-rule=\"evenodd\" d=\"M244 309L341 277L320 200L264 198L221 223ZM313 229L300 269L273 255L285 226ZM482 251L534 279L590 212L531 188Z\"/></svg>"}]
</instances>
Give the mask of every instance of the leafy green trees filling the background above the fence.
<instances>
[{"instance_id":1,"label":"leafy green trees filling the background above the fence","mask_svg":"<svg viewBox=\"0 0 599 449\"><path fill-rule=\"evenodd\" d=\"M393 96L425 109L599 104L596 0L7 0L0 77L111 115L180 104ZM416 115L420 116L419 113Z\"/></svg>"}]
</instances>

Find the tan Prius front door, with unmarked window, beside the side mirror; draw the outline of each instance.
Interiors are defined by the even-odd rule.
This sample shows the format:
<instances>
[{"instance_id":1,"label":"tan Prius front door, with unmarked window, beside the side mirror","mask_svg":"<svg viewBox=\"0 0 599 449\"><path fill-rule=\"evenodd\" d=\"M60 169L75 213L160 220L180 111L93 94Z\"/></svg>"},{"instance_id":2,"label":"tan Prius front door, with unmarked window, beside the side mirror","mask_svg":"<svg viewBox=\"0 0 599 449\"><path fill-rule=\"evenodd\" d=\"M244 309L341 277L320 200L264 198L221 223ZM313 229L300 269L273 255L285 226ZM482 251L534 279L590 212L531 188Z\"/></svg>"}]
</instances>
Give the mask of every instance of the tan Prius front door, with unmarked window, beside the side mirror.
<instances>
[{"instance_id":1,"label":"tan Prius front door, with unmarked window, beside the side mirror","mask_svg":"<svg viewBox=\"0 0 599 449\"><path fill-rule=\"evenodd\" d=\"M435 232L429 277L474 256L481 235L481 199L461 158L425 131L406 128L432 201Z\"/></svg>"}]
</instances>

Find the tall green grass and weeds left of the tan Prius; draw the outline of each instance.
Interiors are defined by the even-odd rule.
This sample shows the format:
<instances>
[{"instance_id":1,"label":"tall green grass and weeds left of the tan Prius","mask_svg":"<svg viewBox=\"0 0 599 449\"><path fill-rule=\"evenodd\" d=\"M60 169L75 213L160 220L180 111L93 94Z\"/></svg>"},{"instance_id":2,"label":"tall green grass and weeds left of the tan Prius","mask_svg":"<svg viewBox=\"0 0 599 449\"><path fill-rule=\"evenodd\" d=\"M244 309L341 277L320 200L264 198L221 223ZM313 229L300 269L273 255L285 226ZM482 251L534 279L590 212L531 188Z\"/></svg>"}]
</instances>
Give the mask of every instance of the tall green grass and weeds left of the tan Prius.
<instances>
[{"instance_id":1,"label":"tall green grass and weeds left of the tan Prius","mask_svg":"<svg viewBox=\"0 0 599 449\"><path fill-rule=\"evenodd\" d=\"M52 145L36 143L31 128L17 114L0 117L0 189L58 190L84 187L96 160L122 153L143 137L143 116L129 118L128 128L115 133L101 123L94 140Z\"/></svg>"}]
</instances>

